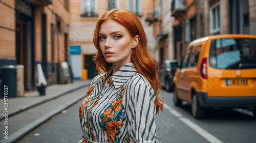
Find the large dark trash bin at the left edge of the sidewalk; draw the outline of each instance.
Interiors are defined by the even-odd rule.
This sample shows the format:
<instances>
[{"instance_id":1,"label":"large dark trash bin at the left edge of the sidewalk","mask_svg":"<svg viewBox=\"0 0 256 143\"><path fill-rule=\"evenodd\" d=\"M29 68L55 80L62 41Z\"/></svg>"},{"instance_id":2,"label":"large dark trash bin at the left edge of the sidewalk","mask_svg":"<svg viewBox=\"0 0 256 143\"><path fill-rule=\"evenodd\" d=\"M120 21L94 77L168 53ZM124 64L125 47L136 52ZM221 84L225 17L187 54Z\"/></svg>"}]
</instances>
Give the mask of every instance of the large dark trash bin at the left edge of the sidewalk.
<instances>
[{"instance_id":1,"label":"large dark trash bin at the left edge of the sidewalk","mask_svg":"<svg viewBox=\"0 0 256 143\"><path fill-rule=\"evenodd\" d=\"M17 97L17 69L13 65L1 67L2 97ZM7 94L8 93L8 94Z\"/></svg>"}]
</instances>

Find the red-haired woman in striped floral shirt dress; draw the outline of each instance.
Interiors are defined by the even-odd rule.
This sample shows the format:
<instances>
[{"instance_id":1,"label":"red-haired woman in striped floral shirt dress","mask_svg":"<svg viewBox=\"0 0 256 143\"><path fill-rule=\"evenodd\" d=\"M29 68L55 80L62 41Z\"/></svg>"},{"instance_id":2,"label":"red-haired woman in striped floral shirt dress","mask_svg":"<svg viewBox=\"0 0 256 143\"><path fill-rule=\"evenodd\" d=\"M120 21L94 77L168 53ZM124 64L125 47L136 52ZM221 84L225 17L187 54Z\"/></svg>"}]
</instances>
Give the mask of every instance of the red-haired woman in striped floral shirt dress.
<instances>
[{"instance_id":1,"label":"red-haired woman in striped floral shirt dress","mask_svg":"<svg viewBox=\"0 0 256 143\"><path fill-rule=\"evenodd\" d=\"M79 108L79 142L160 142L154 116L163 110L157 63L140 20L127 10L106 12L97 22L96 76Z\"/></svg>"}]
</instances>

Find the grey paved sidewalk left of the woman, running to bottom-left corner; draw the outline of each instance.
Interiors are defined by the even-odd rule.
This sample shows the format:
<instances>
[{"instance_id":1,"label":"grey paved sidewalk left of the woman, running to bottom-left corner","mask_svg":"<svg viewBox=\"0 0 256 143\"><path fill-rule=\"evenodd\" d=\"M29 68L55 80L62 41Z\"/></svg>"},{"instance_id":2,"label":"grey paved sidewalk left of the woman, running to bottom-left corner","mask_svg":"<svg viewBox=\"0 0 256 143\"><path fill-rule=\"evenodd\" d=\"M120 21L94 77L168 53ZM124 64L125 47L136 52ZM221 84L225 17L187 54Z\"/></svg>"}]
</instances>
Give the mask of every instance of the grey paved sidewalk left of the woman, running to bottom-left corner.
<instances>
[{"instance_id":1,"label":"grey paved sidewalk left of the woman, running to bottom-left corner","mask_svg":"<svg viewBox=\"0 0 256 143\"><path fill-rule=\"evenodd\" d=\"M45 96L27 93L34 97L8 98L8 139L1 137L0 142L16 142L60 111L81 100L86 95L90 83L91 80L75 80L73 83L47 87ZM0 103L4 103L3 98L0 99ZM0 111L4 113L4 107L0 108ZM3 117L0 121L1 130L5 128L3 122L6 119Z\"/></svg>"}]
</instances>

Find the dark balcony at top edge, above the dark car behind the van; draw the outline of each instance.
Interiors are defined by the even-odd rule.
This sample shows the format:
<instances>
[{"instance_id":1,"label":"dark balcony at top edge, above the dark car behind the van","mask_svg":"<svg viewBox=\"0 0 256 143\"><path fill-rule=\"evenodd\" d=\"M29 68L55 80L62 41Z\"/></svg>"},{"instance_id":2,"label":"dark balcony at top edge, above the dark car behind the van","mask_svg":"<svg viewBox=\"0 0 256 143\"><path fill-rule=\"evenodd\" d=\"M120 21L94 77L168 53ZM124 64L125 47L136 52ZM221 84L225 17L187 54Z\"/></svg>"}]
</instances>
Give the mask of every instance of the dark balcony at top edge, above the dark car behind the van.
<instances>
[{"instance_id":1,"label":"dark balcony at top edge, above the dark car behind the van","mask_svg":"<svg viewBox=\"0 0 256 143\"><path fill-rule=\"evenodd\" d=\"M176 16L186 10L185 0L173 0L172 16Z\"/></svg>"}]
</instances>

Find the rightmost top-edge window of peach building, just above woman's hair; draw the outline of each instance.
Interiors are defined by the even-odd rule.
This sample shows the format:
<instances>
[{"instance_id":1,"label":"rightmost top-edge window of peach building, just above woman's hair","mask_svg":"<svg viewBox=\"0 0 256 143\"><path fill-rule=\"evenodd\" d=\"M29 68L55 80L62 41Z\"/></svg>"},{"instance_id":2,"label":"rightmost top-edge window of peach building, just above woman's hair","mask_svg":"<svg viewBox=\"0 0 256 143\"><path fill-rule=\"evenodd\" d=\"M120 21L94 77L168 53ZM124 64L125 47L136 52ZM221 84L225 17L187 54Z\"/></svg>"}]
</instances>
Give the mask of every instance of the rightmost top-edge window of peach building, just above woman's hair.
<instances>
[{"instance_id":1,"label":"rightmost top-edge window of peach building, just above woman's hair","mask_svg":"<svg viewBox=\"0 0 256 143\"><path fill-rule=\"evenodd\" d=\"M129 11L131 11L132 13L134 13L137 16L142 16L141 0L129 0L128 6L129 6Z\"/></svg>"}]
</instances>

